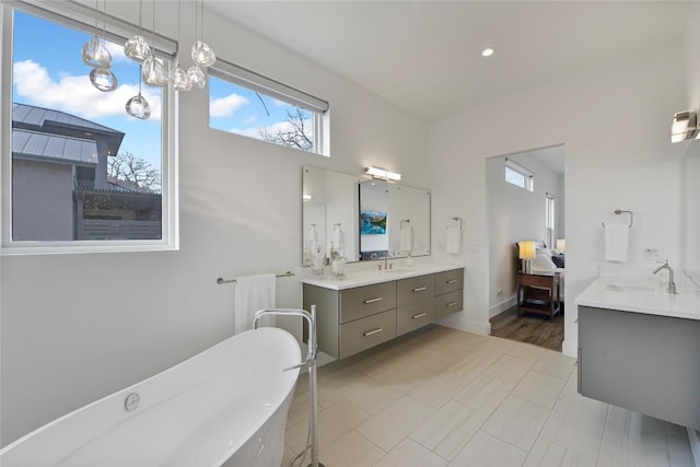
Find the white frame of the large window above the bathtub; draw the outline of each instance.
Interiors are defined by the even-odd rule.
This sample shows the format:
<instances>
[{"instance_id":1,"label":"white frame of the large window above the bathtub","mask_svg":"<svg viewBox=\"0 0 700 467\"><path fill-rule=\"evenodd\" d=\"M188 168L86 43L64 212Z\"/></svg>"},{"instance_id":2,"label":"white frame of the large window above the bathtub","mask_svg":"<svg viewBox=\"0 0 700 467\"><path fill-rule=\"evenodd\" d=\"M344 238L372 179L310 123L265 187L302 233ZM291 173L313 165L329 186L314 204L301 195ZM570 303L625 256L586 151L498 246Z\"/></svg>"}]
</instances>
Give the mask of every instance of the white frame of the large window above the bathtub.
<instances>
[{"instance_id":1,"label":"white frame of the large window above the bathtub","mask_svg":"<svg viewBox=\"0 0 700 467\"><path fill-rule=\"evenodd\" d=\"M100 240L100 241L14 241L12 238L12 85L14 56L14 11L19 10L44 20L54 21L66 27L77 28L88 34L97 33L108 40L126 42L137 34L137 25L106 15L106 25L95 28L95 10L74 2L22 2L10 1L0 4L0 256L48 255L75 253L154 252L179 249L178 209L178 96L170 86L162 91L161 116L161 225L159 240ZM93 25L91 25L91 22ZM152 40L156 54L171 65L177 44L166 37L155 35Z\"/></svg>"}]
</instances>

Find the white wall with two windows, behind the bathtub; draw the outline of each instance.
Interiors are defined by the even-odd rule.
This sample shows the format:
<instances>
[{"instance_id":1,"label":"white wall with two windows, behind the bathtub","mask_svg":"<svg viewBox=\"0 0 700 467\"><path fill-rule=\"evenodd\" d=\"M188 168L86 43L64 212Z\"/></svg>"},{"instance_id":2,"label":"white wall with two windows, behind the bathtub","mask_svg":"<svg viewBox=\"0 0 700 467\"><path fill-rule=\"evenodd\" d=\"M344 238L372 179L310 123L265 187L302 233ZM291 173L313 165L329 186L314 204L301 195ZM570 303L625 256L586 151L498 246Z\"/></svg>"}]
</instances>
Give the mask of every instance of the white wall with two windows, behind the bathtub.
<instances>
[{"instance_id":1,"label":"white wall with two windows, behind the bathtub","mask_svg":"<svg viewBox=\"0 0 700 467\"><path fill-rule=\"evenodd\" d=\"M133 2L109 9L132 21L138 12ZM161 10L158 24L174 36L176 9ZM235 287L218 277L300 272L302 165L376 165L429 186L424 121L219 16L207 19L207 42L328 100L330 159L210 130L206 91L182 94L178 252L2 258L2 444L230 336ZM301 306L296 278L277 292L279 306Z\"/></svg>"}]
</instances>

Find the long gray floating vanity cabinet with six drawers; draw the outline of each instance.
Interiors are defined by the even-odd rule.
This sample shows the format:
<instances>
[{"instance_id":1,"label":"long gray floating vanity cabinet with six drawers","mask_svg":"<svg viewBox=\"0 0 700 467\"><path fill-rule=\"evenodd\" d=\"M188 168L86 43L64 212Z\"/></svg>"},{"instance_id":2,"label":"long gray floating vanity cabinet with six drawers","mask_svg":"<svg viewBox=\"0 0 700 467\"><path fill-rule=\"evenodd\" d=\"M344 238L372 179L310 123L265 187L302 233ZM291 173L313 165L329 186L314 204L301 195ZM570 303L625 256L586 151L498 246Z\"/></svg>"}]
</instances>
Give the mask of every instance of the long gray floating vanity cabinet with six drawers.
<instances>
[{"instance_id":1,"label":"long gray floating vanity cabinet with six drawers","mask_svg":"<svg viewBox=\"0 0 700 467\"><path fill-rule=\"evenodd\" d=\"M463 271L455 269L341 290L304 283L304 310L316 305L318 350L345 359L460 311Z\"/></svg>"}]
</instances>

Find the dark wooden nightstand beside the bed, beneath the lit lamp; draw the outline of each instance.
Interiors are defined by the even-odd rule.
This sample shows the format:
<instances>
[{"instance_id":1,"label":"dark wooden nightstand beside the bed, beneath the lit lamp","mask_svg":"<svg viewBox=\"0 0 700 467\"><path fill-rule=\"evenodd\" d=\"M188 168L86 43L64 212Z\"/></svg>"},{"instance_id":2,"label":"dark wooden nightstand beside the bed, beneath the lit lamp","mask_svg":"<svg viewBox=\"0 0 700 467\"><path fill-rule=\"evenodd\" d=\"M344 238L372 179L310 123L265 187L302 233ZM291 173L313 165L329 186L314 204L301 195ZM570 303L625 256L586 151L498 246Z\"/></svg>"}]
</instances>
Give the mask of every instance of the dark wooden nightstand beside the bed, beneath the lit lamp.
<instances>
[{"instance_id":1,"label":"dark wooden nightstand beside the bed, beneath the lit lamp","mask_svg":"<svg viewBox=\"0 0 700 467\"><path fill-rule=\"evenodd\" d=\"M517 316L537 313L552 319L561 310L559 272L517 273Z\"/></svg>"}]
</instances>

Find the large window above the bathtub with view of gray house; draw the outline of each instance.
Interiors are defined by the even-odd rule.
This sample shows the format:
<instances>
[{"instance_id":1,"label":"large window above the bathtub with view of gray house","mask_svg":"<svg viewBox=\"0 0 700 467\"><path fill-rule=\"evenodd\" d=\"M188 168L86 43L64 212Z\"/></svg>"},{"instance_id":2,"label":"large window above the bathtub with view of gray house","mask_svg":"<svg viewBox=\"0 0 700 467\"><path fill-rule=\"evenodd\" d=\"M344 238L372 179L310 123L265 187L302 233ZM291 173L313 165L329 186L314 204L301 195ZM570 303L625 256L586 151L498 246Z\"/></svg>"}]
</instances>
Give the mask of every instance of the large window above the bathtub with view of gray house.
<instances>
[{"instance_id":1,"label":"large window above the bathtub with view of gray house","mask_svg":"<svg viewBox=\"0 0 700 467\"><path fill-rule=\"evenodd\" d=\"M124 55L131 33L119 24L94 30L94 11L83 11L91 24L75 17L84 5L57 3L2 5L2 73L11 77L2 82L2 115L11 116L2 120L2 252L174 248L170 91L143 85L150 118L129 116L140 81L139 63ZM112 55L110 92L92 84L81 58L95 33Z\"/></svg>"}]
</instances>

